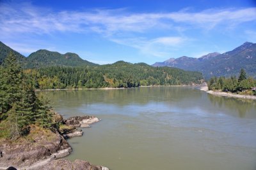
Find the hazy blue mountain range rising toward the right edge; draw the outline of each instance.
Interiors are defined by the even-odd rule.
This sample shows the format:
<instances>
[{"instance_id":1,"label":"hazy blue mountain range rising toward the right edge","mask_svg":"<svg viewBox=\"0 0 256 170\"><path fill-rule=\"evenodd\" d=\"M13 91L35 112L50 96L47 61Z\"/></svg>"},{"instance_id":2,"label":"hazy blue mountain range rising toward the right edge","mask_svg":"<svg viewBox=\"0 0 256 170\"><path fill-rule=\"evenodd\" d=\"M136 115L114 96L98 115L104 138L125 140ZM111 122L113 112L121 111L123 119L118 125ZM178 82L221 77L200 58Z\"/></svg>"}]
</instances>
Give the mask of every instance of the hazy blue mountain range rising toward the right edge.
<instances>
[{"instance_id":1,"label":"hazy blue mountain range rising toward the right edge","mask_svg":"<svg viewBox=\"0 0 256 170\"><path fill-rule=\"evenodd\" d=\"M238 75L244 68L249 76L256 77L256 43L246 42L234 50L225 53L209 53L198 59L193 57L170 58L156 62L154 67L177 67L188 71L200 71L205 78L212 76Z\"/></svg>"}]
</instances>

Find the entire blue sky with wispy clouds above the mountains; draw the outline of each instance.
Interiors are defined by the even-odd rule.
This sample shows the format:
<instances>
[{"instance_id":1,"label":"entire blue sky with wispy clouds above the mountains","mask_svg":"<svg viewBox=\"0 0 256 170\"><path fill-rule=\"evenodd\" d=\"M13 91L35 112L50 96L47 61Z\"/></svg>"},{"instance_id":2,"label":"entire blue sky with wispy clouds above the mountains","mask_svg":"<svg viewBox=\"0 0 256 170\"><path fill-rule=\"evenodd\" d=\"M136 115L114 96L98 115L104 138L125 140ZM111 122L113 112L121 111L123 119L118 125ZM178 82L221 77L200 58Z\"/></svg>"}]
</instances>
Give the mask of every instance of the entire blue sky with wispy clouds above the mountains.
<instances>
[{"instance_id":1,"label":"entire blue sky with wispy clouds above the mountains","mask_svg":"<svg viewBox=\"0 0 256 170\"><path fill-rule=\"evenodd\" d=\"M74 52L97 64L227 52L256 43L256 1L0 1L0 41L28 56Z\"/></svg>"}]
</instances>

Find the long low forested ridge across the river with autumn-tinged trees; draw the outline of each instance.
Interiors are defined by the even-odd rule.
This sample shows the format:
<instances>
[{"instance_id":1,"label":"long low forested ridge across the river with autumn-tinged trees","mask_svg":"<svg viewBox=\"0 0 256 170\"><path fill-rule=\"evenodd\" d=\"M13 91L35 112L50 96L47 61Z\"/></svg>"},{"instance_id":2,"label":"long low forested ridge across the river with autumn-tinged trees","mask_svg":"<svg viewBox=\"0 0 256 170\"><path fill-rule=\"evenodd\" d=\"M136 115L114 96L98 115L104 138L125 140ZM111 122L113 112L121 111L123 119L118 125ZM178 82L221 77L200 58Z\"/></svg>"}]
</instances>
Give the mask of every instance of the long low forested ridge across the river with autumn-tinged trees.
<instances>
[{"instance_id":1,"label":"long low forested ridge across the river with autumn-tinged trees","mask_svg":"<svg viewBox=\"0 0 256 170\"><path fill-rule=\"evenodd\" d=\"M97 67L51 66L24 71L37 89L138 87L202 83L201 73L118 61Z\"/></svg>"}]
</instances>

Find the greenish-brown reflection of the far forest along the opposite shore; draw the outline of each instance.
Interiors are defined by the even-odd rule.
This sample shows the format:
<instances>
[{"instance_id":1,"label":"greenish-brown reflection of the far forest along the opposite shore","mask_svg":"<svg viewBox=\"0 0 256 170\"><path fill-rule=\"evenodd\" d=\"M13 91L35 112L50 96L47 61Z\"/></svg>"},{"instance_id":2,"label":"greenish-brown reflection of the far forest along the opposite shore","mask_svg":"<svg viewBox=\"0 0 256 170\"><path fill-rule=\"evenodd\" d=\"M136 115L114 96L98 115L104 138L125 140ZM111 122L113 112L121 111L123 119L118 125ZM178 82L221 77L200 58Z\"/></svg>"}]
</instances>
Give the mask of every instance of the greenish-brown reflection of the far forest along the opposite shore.
<instances>
[{"instance_id":1,"label":"greenish-brown reflection of the far forest along the opposite shore","mask_svg":"<svg viewBox=\"0 0 256 170\"><path fill-rule=\"evenodd\" d=\"M131 89L115 90L58 90L44 91L38 94L45 94L53 102L58 100L72 101L75 106L90 103L115 103L120 106L132 103L147 104L149 102L175 101L183 99L195 99L202 96L195 89L188 87L140 87Z\"/></svg>"}]
</instances>

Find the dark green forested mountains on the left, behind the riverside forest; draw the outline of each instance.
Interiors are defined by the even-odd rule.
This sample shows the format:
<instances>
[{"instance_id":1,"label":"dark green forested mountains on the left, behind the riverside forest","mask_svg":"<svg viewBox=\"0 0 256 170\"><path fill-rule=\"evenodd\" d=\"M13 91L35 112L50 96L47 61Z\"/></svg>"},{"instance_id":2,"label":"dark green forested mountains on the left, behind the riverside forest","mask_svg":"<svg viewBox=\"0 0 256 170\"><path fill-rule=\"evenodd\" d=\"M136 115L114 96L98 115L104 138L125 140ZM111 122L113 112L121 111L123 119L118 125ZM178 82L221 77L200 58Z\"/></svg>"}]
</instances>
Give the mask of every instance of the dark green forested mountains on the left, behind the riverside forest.
<instances>
[{"instance_id":1,"label":"dark green forested mountains on the left, behind the riverside forest","mask_svg":"<svg viewBox=\"0 0 256 170\"><path fill-rule=\"evenodd\" d=\"M28 57L24 57L19 52L16 52L9 46L4 45L0 41L0 64L7 55L13 52L24 68L37 68L45 66L97 66L89 62L88 60L83 60L76 53L65 53L61 54L58 52L50 52L48 50L38 50L31 53Z\"/></svg>"}]
</instances>

